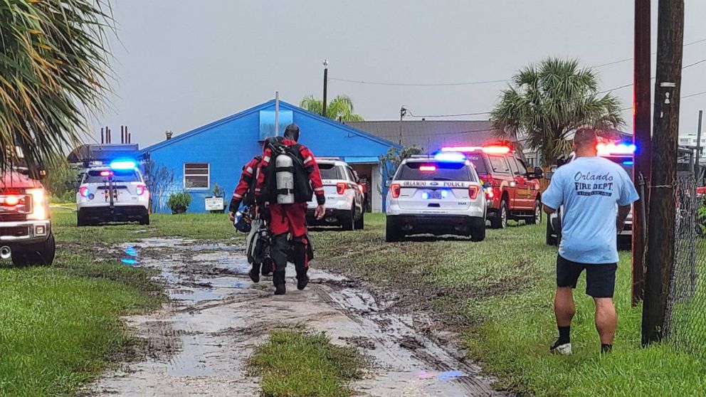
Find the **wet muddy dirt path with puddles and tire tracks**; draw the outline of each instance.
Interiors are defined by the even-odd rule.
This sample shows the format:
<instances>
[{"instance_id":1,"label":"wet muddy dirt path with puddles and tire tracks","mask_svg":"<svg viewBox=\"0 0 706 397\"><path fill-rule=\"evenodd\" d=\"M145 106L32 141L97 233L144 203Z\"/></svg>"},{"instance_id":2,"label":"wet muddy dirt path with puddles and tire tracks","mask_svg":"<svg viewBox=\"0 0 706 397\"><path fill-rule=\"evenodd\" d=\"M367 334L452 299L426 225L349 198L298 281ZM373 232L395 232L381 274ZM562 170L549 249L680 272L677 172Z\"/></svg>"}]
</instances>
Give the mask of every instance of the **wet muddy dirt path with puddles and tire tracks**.
<instances>
[{"instance_id":1,"label":"wet muddy dirt path with puddles and tire tracks","mask_svg":"<svg viewBox=\"0 0 706 397\"><path fill-rule=\"evenodd\" d=\"M181 239L121 248L126 265L160 270L170 300L158 312L126 319L147 339L147 353L105 374L90 388L95 396L259 396L248 356L268 330L295 324L372 358L366 379L353 385L360 396L500 395L453 347L416 333L411 317L315 263L305 291L296 290L290 266L288 293L275 297L269 277L259 284L248 278L242 248Z\"/></svg>"}]
</instances>

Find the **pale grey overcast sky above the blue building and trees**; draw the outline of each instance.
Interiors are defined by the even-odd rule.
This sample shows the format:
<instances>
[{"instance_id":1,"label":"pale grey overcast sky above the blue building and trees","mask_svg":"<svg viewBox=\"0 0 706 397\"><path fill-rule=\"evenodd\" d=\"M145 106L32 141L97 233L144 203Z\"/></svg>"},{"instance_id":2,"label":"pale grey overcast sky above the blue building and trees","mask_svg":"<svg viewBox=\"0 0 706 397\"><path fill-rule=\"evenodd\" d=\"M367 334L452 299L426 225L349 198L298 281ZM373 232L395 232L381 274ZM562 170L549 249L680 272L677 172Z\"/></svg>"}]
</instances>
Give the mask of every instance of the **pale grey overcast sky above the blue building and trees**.
<instances>
[{"instance_id":1,"label":"pale grey overcast sky above the blue building and trees","mask_svg":"<svg viewBox=\"0 0 706 397\"><path fill-rule=\"evenodd\" d=\"M331 79L403 84L505 80L547 55L579 58L584 65L631 58L633 3L113 0L117 83L93 137L100 139L100 126L108 125L115 142L120 125L130 125L133 142L146 147L164 139L167 129L181 134L270 100L275 90L298 104L304 95L322 94L325 58ZM652 3L656 51L657 1ZM706 1L685 3L684 42L706 39ZM685 48L685 65L704 58L706 42ZM597 70L602 89L632 82L631 61ZM329 97L350 95L366 120L396 120L401 105L414 115L488 112L504 86L330 80ZM706 63L683 74L683 95L702 91ZM631 106L632 88L615 93ZM706 95L683 100L682 132L695 131L704 107ZM631 110L624 115L631 129Z\"/></svg>"}]
</instances>

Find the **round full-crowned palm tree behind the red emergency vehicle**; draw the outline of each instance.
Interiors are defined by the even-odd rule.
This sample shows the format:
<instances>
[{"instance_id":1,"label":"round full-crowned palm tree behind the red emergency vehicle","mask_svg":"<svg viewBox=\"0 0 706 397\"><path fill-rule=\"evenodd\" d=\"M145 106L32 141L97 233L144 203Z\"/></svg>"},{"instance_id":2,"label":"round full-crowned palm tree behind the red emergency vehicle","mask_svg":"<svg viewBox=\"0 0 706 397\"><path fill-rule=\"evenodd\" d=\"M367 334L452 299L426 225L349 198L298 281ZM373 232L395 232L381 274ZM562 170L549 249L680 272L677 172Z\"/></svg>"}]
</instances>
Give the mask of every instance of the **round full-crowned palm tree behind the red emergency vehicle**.
<instances>
[{"instance_id":1,"label":"round full-crowned palm tree behind the red emergency vehicle","mask_svg":"<svg viewBox=\"0 0 706 397\"><path fill-rule=\"evenodd\" d=\"M523 146L537 150L548 165L571 151L569 137L576 128L624 125L620 100L610 92L603 94L596 73L580 68L578 60L547 58L512 77L490 120L498 138L524 141Z\"/></svg>"}]
</instances>

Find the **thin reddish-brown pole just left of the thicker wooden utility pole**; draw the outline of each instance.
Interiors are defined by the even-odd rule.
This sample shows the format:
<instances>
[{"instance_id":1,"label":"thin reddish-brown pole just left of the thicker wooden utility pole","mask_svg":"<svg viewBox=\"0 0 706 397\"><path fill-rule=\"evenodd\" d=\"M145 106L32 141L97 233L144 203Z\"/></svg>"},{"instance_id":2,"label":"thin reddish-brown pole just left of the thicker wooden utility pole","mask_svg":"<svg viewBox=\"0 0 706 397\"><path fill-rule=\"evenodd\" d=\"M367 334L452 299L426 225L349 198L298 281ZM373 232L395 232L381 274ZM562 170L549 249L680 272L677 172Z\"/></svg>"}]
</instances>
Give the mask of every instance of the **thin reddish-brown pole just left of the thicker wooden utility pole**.
<instances>
[{"instance_id":1,"label":"thin reddish-brown pole just left of the thicker wooden utility pole","mask_svg":"<svg viewBox=\"0 0 706 397\"><path fill-rule=\"evenodd\" d=\"M650 160L652 156L652 129L650 126L650 102L652 92L651 54L650 54L650 1L635 0L635 56L633 84L633 143L637 147L633 164L633 183L649 186ZM642 177L641 177L642 176ZM644 194L642 192L645 192ZM643 203L633 204L633 306L643 299L645 292L645 233L647 214L643 208L649 208L649 189L641 189ZM647 211L644 211L647 212Z\"/></svg>"}]
</instances>

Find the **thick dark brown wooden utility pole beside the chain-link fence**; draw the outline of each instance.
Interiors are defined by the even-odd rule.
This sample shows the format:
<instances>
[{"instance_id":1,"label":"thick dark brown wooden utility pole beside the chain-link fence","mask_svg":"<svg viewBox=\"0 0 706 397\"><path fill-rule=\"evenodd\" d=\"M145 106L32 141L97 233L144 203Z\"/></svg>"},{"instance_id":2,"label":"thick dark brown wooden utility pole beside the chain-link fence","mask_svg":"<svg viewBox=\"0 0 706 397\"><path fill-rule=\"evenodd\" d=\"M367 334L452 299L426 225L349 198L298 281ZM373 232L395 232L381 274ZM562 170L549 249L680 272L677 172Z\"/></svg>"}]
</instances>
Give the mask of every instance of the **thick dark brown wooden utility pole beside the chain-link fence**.
<instances>
[{"instance_id":1,"label":"thick dark brown wooden utility pole beside the chain-link fence","mask_svg":"<svg viewBox=\"0 0 706 397\"><path fill-rule=\"evenodd\" d=\"M675 187L684 41L684 0L659 0L650 218L642 344L659 342L674 265Z\"/></svg>"}]
</instances>

